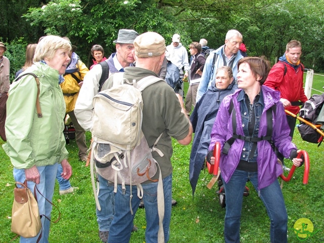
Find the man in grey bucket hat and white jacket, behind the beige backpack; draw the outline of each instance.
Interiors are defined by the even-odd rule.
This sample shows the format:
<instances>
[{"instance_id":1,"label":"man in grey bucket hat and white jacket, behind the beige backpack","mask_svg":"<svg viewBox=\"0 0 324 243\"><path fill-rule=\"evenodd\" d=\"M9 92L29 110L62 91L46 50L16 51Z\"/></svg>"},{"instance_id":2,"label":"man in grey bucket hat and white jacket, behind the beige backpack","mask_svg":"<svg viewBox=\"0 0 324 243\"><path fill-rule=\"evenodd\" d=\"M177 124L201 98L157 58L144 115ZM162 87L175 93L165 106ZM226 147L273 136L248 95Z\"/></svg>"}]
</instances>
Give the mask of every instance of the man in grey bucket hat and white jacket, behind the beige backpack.
<instances>
[{"instance_id":1,"label":"man in grey bucket hat and white jacket, behind the beige backpack","mask_svg":"<svg viewBox=\"0 0 324 243\"><path fill-rule=\"evenodd\" d=\"M106 62L108 71L105 71L105 73L108 72L107 74L109 74L109 76L116 72L124 72L125 67L134 66L133 42L137 36L138 33L135 30L119 29L118 37L113 42L116 44L116 52L112 53L107 60L95 65L84 77L83 85L75 103L74 114L79 124L86 131L90 131L92 127L93 97L102 90L102 88L99 87L101 76L104 75L103 66L101 64ZM98 180L98 200L101 210L97 209L96 212L99 225L99 237L103 242L107 242L109 227L114 214L113 183L108 182L100 175L98 175ZM131 226L130 229L132 228L136 230L136 228Z\"/></svg>"}]
</instances>

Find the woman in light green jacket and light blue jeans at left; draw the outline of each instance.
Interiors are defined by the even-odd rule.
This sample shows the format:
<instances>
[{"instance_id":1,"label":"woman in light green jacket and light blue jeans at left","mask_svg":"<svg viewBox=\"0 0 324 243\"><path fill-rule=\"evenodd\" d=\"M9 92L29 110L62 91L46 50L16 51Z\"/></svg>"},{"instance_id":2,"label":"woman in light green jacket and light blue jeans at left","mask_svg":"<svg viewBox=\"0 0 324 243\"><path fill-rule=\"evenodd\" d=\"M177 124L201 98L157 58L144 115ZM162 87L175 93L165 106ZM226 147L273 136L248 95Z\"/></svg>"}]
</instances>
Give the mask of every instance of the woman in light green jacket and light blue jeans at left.
<instances>
[{"instance_id":1,"label":"woman in light green jacket and light blue jeans at left","mask_svg":"<svg viewBox=\"0 0 324 243\"><path fill-rule=\"evenodd\" d=\"M39 192L50 201L58 165L63 167L62 178L69 179L72 174L63 136L65 102L59 86L64 80L62 74L70 60L70 51L65 39L45 36L36 47L34 64L23 72L34 73L39 78L42 117L37 116L37 86L32 75L25 75L11 85L7 101L7 143L3 147L14 166L14 178L21 183L27 180L32 192L37 184ZM41 195L37 199L39 214L50 219L52 205ZM50 221L42 217L42 225L39 242L48 242ZM21 236L20 242L36 242L38 235L28 239Z\"/></svg>"}]
</instances>

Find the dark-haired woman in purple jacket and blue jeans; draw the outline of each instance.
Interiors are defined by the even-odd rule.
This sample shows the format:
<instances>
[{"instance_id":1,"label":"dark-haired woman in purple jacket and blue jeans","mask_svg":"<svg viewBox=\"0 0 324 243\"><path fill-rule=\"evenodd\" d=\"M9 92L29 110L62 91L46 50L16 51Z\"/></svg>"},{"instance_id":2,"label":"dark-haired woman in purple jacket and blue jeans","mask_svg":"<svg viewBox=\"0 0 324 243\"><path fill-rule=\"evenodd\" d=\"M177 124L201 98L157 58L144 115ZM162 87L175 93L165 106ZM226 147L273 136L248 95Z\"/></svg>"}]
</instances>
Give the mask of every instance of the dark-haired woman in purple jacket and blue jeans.
<instances>
[{"instance_id":1,"label":"dark-haired woman in purple jacket and blue jeans","mask_svg":"<svg viewBox=\"0 0 324 243\"><path fill-rule=\"evenodd\" d=\"M285 157L292 159L295 166L301 166L303 160L296 158L299 150L289 137L290 130L284 106L279 101L279 92L263 86L269 70L269 62L262 58L239 60L239 90L224 98L212 129L209 150L213 150L215 142L220 142L222 151L219 166L226 192L225 242L239 242L242 196L248 180L258 191L270 218L270 241L287 242L288 216L277 180L282 168L270 142ZM271 141L258 141L258 138L267 135L267 110L270 111L268 117L272 115ZM240 136L234 136L232 145L224 154L224 145L233 134ZM250 142L251 138L257 142ZM212 151L208 157L214 164L215 158L211 155Z\"/></svg>"}]
</instances>

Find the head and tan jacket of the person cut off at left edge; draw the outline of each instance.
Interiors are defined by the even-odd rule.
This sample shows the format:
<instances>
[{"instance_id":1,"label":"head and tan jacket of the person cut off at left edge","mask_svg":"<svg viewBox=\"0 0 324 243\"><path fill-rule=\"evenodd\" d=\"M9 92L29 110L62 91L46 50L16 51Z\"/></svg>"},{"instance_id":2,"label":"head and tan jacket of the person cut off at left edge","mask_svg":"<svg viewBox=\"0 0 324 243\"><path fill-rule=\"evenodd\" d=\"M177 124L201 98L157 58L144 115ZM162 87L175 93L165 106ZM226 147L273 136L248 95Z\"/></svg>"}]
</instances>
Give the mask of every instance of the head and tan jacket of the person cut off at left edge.
<instances>
[{"instance_id":1,"label":"head and tan jacket of the person cut off at left edge","mask_svg":"<svg viewBox=\"0 0 324 243\"><path fill-rule=\"evenodd\" d=\"M8 93L10 80L10 61L4 56L7 47L4 43L0 42L0 93Z\"/></svg>"}]
</instances>

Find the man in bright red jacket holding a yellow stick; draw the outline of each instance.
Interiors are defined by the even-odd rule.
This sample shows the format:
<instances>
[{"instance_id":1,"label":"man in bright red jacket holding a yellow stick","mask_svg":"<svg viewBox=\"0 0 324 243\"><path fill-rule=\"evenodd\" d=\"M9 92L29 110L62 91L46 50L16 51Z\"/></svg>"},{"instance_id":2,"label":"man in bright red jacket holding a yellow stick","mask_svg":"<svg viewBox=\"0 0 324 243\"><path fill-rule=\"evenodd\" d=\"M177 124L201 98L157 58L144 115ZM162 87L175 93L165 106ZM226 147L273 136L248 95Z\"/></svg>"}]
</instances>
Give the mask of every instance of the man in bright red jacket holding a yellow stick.
<instances>
[{"instance_id":1,"label":"man in bright red jacket holding a yellow stick","mask_svg":"<svg viewBox=\"0 0 324 243\"><path fill-rule=\"evenodd\" d=\"M308 99L303 88L304 66L300 62L302 46L300 42L293 40L286 46L285 54L279 58L279 62L273 65L264 83L265 86L280 91L280 101L285 109L298 114L298 102L305 103ZM286 115L290 127L290 136L293 138L296 126L296 118ZM283 162L284 157L277 154ZM284 166L284 169L287 170ZM289 170L289 169L288 169Z\"/></svg>"}]
</instances>

